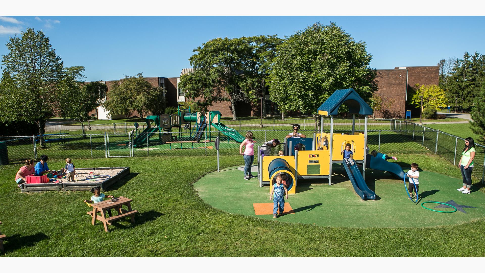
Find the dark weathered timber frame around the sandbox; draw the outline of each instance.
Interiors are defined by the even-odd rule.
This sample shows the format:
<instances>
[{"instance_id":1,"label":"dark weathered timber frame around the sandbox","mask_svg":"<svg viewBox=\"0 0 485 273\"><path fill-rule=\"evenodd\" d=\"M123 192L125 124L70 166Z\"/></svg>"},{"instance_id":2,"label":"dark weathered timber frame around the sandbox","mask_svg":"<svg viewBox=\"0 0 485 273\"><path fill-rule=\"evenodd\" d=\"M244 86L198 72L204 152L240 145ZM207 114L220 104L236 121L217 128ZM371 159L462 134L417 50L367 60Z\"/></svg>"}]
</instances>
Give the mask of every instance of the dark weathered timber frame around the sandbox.
<instances>
[{"instance_id":1,"label":"dark weathered timber frame around the sandbox","mask_svg":"<svg viewBox=\"0 0 485 273\"><path fill-rule=\"evenodd\" d=\"M44 190L90 190L94 187L101 187L101 190L106 190L108 187L118 182L121 178L129 174L129 167L104 167L104 168L76 168L76 171L96 171L96 170L121 170L120 173L101 181L93 181L93 183L85 182L67 182L67 183L41 183L41 184L20 184L22 192L28 191L44 191Z\"/></svg>"}]
</instances>

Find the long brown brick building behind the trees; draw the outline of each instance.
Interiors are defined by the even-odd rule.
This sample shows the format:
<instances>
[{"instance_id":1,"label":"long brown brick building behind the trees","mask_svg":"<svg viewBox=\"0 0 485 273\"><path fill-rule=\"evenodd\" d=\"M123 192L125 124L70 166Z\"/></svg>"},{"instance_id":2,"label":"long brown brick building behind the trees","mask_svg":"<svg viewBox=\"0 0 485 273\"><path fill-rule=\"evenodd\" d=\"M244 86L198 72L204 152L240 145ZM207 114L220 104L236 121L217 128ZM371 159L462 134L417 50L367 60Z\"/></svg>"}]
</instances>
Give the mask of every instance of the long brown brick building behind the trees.
<instances>
[{"instance_id":1,"label":"long brown brick building behind the trees","mask_svg":"<svg viewBox=\"0 0 485 273\"><path fill-rule=\"evenodd\" d=\"M183 68L180 72L180 76L194 71L194 68ZM420 85L437 85L439 78L439 68L438 66L427 66L427 67L395 67L394 69L378 69L376 70L377 77L375 81L377 83L378 90L376 92L384 100L392 103L391 109L389 109L390 114L394 117L405 117L406 110L411 110L413 116L419 116L419 108L409 105L409 94L412 91L412 87L416 84ZM156 87L165 88L165 97L167 99L167 106L177 107L178 102L186 102L189 99L185 96L183 90L178 87L180 82L179 77L146 77L145 79ZM116 81L102 81L108 85L108 93L111 88L111 84ZM352 87L352 86L349 86ZM267 92L268 93L268 92ZM106 99L106 94L102 94L100 100ZM200 100L197 98L196 100ZM269 95L265 98L265 113L269 116L277 116L281 113L277 109L277 105L271 102ZM208 108L209 111L220 111L223 117L232 117L231 102L214 102L212 106ZM99 119L107 119L107 111L98 106L93 114L97 114ZM237 116L259 116L260 108L259 103L251 105L247 102L238 102L236 104L236 114ZM295 115L298 113L289 113L290 115ZM133 116L139 116L135 111ZM376 118L382 118L381 113L374 113ZM122 117L112 117L113 119Z\"/></svg>"}]
</instances>

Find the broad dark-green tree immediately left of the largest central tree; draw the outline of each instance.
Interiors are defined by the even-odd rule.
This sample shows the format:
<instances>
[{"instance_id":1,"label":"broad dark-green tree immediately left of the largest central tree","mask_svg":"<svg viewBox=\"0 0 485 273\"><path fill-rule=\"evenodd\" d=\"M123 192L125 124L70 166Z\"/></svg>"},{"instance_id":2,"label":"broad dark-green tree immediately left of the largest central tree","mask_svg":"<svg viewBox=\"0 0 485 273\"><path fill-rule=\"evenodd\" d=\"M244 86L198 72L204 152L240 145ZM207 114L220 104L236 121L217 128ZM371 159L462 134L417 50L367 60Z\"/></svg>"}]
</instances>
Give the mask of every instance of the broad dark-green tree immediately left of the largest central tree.
<instances>
[{"instance_id":1,"label":"broad dark-green tree immediately left of the largest central tree","mask_svg":"<svg viewBox=\"0 0 485 273\"><path fill-rule=\"evenodd\" d=\"M236 119L236 103L256 102L261 94L256 47L264 48L265 43L252 43L247 37L215 38L194 49L189 58L194 72L180 77L186 96L206 109L213 102L229 101Z\"/></svg>"}]
</instances>

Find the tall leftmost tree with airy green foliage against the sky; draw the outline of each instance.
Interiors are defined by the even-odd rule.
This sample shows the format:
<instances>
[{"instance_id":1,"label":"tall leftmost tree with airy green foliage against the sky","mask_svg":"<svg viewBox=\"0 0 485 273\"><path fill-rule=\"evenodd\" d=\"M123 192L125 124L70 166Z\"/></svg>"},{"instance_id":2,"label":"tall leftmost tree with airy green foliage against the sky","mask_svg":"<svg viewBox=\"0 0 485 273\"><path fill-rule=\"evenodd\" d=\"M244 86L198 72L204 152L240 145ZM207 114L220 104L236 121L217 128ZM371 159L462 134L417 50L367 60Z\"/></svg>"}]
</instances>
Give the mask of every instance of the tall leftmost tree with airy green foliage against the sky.
<instances>
[{"instance_id":1,"label":"tall leftmost tree with airy green foliage against the sky","mask_svg":"<svg viewBox=\"0 0 485 273\"><path fill-rule=\"evenodd\" d=\"M59 109L63 62L49 38L32 28L10 37L6 46L9 52L2 56L0 120L34 123L42 135L46 121Z\"/></svg>"}]
</instances>

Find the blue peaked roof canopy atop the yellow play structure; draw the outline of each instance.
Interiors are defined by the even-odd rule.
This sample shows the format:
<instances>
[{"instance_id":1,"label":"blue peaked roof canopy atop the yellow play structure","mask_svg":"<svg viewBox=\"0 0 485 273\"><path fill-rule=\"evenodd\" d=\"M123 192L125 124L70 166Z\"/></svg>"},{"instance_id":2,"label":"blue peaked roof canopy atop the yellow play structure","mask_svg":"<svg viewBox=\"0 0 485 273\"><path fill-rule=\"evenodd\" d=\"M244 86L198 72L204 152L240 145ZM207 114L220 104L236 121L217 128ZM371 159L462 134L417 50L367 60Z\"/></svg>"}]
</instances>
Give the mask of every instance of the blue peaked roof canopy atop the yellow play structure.
<instances>
[{"instance_id":1,"label":"blue peaked roof canopy atop the yellow play structure","mask_svg":"<svg viewBox=\"0 0 485 273\"><path fill-rule=\"evenodd\" d=\"M372 108L357 94L354 88L335 90L335 92L318 107L318 114L335 116L340 105L349 107L350 114L372 115Z\"/></svg>"}]
</instances>

